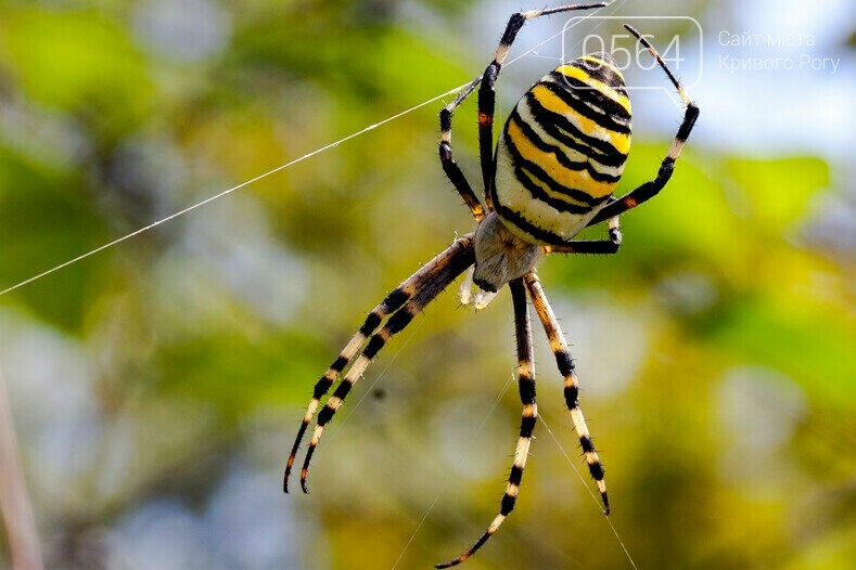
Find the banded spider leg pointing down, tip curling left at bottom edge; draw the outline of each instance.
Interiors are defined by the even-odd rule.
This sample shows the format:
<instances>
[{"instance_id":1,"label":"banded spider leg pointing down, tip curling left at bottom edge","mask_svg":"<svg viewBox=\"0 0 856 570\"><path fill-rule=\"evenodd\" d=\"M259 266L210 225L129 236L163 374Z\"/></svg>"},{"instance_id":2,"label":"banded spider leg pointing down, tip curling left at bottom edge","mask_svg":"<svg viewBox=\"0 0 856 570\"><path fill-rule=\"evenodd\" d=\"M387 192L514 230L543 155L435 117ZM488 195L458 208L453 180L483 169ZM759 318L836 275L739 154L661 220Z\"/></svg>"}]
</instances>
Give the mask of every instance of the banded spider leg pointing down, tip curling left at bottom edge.
<instances>
[{"instance_id":1,"label":"banded spider leg pointing down, tip curling left at bottom edge","mask_svg":"<svg viewBox=\"0 0 856 570\"><path fill-rule=\"evenodd\" d=\"M523 479L523 468L526 466L526 457L529 453L532 443L532 431L538 418L538 406L535 403L535 362L532 349L532 323L529 322L529 311L526 303L526 289L523 280L518 278L509 283L511 288L511 300L514 305L514 333L518 339L518 387L520 400L523 403L523 418L520 423L520 439L514 451L514 463L511 466L511 474L508 478L506 494L502 496L502 505L499 515L487 528L484 534L465 553L458 558L437 565L435 568L449 568L457 566L478 548L496 533L502 521L514 508L520 492L520 483Z\"/></svg>"}]
</instances>

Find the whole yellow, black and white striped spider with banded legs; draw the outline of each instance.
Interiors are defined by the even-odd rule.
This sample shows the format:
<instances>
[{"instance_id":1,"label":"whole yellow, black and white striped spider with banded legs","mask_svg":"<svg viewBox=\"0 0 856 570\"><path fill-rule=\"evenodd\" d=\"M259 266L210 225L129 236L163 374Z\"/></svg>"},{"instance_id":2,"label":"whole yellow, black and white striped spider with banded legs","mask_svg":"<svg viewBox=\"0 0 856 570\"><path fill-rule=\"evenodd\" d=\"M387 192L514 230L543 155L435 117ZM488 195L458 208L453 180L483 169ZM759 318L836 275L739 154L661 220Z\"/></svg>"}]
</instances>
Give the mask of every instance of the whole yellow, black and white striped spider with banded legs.
<instances>
[{"instance_id":1,"label":"whole yellow, black and white striped spider with banded legs","mask_svg":"<svg viewBox=\"0 0 856 570\"><path fill-rule=\"evenodd\" d=\"M571 411L585 461L600 492L603 513L610 514L603 467L579 407L574 361L535 267L549 254L615 254L622 241L618 216L652 198L666 185L699 116L699 107L690 100L656 49L639 31L625 25L656 60L686 105L683 120L653 180L619 198L612 197L627 160L631 129L630 102L624 76L609 53L583 55L541 78L518 102L494 146L494 87L509 49L523 25L548 14L604 5L565 5L513 14L494 60L484 74L443 108L439 114L440 164L475 218L475 231L456 239L448 249L405 280L369 313L354 338L316 384L289 455L283 482L286 493L301 441L318 411L321 398L353 361L333 396L318 412L317 425L301 470L301 487L304 492L308 492L306 477L309 462L324 428L384 345L464 272L461 302L468 305L472 301L476 309L485 308L497 292L508 284L514 311L518 384L523 403L520 438L508 485L499 514L484 534L458 558L437 565L436 568L448 568L467 560L496 533L514 508L538 416L527 295L564 378L565 403ZM452 158L451 151L452 114L476 87L484 205ZM608 221L609 239L571 241L585 228L604 221Z\"/></svg>"}]
</instances>

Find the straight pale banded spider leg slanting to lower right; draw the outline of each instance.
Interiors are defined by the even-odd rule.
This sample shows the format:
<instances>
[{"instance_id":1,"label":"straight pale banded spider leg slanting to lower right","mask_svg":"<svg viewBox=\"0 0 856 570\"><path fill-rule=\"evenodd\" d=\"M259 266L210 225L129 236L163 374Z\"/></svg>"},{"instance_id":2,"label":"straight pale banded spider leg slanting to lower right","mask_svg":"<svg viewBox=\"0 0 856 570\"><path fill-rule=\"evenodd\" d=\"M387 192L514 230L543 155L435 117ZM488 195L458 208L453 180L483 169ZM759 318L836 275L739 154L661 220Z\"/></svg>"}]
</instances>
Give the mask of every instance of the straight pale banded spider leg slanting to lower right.
<instances>
[{"instance_id":1,"label":"straight pale banded spider leg slanting to lower right","mask_svg":"<svg viewBox=\"0 0 856 570\"><path fill-rule=\"evenodd\" d=\"M603 502L603 514L609 515L610 500L606 495L606 482L603 480L603 466L600 463L598 453L595 451L595 444L591 442L591 436L586 426L586 418L583 416L583 410L579 407L579 383L576 377L576 372L574 371L574 360L571 358L564 334L559 327L559 321L555 319L555 314L544 294L544 288L541 288L538 276L535 272L531 272L524 276L523 280L532 297L532 305L535 307L535 312L538 313L538 319L540 319L544 325L544 332L547 333L547 338L550 340L550 348L555 355L555 363L559 365L559 372L564 376L565 403L571 411L571 418L574 422L574 428L579 438L579 444L583 446L588 470L598 483L598 491Z\"/></svg>"}]
</instances>

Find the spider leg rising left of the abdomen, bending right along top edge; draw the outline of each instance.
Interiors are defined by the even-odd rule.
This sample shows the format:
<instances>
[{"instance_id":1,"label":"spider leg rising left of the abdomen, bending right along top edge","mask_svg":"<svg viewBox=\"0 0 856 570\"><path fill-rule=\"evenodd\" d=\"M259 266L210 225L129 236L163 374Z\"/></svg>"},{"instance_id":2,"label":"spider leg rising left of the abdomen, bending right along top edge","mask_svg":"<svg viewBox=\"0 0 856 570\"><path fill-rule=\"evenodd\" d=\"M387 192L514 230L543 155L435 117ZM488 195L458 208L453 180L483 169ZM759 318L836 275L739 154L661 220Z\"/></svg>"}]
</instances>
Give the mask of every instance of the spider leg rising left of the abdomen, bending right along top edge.
<instances>
[{"instance_id":1,"label":"spider leg rising left of the abdomen, bending right along top edge","mask_svg":"<svg viewBox=\"0 0 856 570\"><path fill-rule=\"evenodd\" d=\"M490 185L494 180L494 113L496 111L496 80L499 72L506 63L511 44L518 37L518 33L529 20L558 14L560 12L571 12L573 10L589 10L592 8L603 8L606 2L596 4L572 4L545 10L529 10L512 14L499 40L499 46L490 62L482 75L482 85L478 88L478 158L482 163L482 180L485 186L485 199L488 208L490 204Z\"/></svg>"}]
</instances>

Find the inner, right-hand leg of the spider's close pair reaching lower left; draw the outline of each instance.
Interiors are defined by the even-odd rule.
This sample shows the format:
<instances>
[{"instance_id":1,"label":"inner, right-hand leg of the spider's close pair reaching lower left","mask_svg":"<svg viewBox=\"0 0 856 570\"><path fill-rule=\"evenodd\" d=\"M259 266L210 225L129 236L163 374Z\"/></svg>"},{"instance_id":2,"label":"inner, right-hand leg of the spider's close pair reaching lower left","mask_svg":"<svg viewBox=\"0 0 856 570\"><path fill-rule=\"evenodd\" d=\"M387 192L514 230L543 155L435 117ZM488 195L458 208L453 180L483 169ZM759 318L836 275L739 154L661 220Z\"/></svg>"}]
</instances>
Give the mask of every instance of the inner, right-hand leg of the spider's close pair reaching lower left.
<instances>
[{"instance_id":1,"label":"inner, right-hand leg of the spider's close pair reaching lower left","mask_svg":"<svg viewBox=\"0 0 856 570\"><path fill-rule=\"evenodd\" d=\"M425 278L421 286L412 294L410 299L389 316L386 324L371 336L366 348L362 349L360 355L357 357L357 360L355 360L354 364L348 368L345 377L342 378L342 383L336 387L333 396L330 397L324 407L318 413L318 424L312 432L312 439L309 441L309 449L306 451L306 458L301 469L301 487L304 493L309 492L306 487L306 478L309 474L309 463L324 432L324 427L342 406L345 397L350 392L354 385L362 377L362 373L366 372L372 359L374 359L393 335L401 332L410 324L413 316L421 312L427 303L434 300L443 289L455 281L458 275L463 273L467 268L472 265L474 261L475 254L472 234L456 239L448 249L423 267L423 270L430 268L427 278Z\"/></svg>"}]
</instances>

